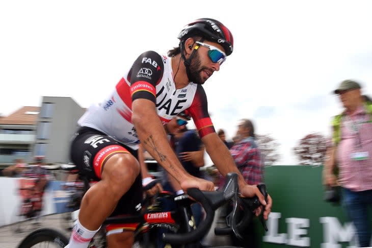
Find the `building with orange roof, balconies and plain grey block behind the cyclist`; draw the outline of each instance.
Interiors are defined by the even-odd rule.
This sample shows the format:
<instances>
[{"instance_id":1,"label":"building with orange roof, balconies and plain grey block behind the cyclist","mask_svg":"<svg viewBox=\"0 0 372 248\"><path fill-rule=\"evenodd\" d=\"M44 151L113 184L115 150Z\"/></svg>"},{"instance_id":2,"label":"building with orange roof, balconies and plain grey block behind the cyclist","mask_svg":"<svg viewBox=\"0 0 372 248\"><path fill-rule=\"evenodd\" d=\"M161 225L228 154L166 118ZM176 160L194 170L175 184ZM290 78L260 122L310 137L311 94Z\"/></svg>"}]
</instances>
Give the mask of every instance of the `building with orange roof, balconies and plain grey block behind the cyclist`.
<instances>
[{"instance_id":1,"label":"building with orange roof, balconies and plain grey block behind the cyclist","mask_svg":"<svg viewBox=\"0 0 372 248\"><path fill-rule=\"evenodd\" d=\"M70 139L84 111L71 97L43 96L41 107L0 117L0 165L16 158L32 162L37 155L46 163L68 163Z\"/></svg>"}]
</instances>

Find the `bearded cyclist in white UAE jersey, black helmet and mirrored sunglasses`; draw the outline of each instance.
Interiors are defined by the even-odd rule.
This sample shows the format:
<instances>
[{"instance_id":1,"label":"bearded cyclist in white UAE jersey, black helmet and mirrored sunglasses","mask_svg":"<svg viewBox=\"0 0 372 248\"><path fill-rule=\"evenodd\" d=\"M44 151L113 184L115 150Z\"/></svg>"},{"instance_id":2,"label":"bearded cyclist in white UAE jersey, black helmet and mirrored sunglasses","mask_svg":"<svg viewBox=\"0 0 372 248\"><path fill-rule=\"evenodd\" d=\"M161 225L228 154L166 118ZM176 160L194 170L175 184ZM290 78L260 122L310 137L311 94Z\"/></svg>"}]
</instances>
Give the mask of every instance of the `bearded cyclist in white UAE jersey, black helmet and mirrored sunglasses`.
<instances>
[{"instance_id":1,"label":"bearded cyclist in white UAE jersey, black helmet and mirrored sunglasses","mask_svg":"<svg viewBox=\"0 0 372 248\"><path fill-rule=\"evenodd\" d=\"M188 109L206 151L222 175L229 171L239 173L215 132L202 87L232 53L232 34L221 22L202 18L185 26L178 39L179 45L168 56L153 51L140 55L113 93L99 105L89 107L78 120L81 128L71 144L71 159L88 177L100 181L83 197L69 248L87 247L108 216L140 210L140 142L183 190L214 190L212 182L185 171L167 140L166 132L177 125L173 117L183 110ZM257 187L247 185L240 173L239 182L243 195L259 197L267 218L272 205L270 196L265 203ZM109 247L131 246L133 227L107 229Z\"/></svg>"}]
</instances>

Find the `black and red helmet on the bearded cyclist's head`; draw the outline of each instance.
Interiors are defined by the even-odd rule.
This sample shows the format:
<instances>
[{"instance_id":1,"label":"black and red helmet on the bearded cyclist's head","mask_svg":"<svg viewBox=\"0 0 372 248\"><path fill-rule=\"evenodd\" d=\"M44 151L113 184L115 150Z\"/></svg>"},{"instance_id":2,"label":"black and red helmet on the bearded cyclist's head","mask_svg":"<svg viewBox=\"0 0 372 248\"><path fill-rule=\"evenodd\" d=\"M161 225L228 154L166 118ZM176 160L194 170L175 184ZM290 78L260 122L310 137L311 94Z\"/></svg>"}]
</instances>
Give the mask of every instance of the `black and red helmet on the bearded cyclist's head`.
<instances>
[{"instance_id":1,"label":"black and red helmet on the bearded cyclist's head","mask_svg":"<svg viewBox=\"0 0 372 248\"><path fill-rule=\"evenodd\" d=\"M234 46L232 34L230 30L218 20L211 18L197 19L187 24L177 38L184 41L192 36L201 36L206 40L222 45L227 56L232 53Z\"/></svg>"}]
</instances>

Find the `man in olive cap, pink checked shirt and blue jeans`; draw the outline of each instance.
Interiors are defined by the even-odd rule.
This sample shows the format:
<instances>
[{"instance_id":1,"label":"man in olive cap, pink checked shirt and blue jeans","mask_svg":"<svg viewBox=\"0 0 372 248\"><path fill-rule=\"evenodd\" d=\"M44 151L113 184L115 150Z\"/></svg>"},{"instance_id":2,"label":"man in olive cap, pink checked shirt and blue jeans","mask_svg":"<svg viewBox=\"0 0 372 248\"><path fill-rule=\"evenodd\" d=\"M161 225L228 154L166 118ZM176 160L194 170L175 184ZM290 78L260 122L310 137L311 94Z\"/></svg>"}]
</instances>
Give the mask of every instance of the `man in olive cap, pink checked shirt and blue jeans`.
<instances>
[{"instance_id":1,"label":"man in olive cap, pink checked shirt and blue jeans","mask_svg":"<svg viewBox=\"0 0 372 248\"><path fill-rule=\"evenodd\" d=\"M323 171L323 184L340 185L343 206L353 221L360 247L370 246L368 206L372 206L372 102L361 86L344 80L334 91L344 110L332 120L332 145ZM338 166L338 181L334 169Z\"/></svg>"}]
</instances>

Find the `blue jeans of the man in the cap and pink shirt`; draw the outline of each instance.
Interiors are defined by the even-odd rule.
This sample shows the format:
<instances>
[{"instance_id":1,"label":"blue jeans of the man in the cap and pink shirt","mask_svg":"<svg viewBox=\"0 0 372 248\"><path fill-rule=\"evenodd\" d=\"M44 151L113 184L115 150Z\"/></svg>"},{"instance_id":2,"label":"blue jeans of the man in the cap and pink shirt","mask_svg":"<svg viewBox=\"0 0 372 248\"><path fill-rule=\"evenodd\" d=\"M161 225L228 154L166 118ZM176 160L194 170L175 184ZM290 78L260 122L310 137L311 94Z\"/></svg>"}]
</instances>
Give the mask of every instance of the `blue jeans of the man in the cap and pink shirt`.
<instances>
[{"instance_id":1,"label":"blue jeans of the man in the cap and pink shirt","mask_svg":"<svg viewBox=\"0 0 372 248\"><path fill-rule=\"evenodd\" d=\"M368 206L372 206L372 190L356 192L343 188L343 205L356 228L360 247L370 246L372 230Z\"/></svg>"}]
</instances>

